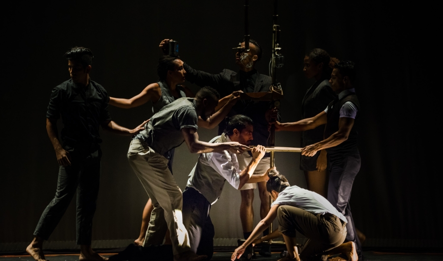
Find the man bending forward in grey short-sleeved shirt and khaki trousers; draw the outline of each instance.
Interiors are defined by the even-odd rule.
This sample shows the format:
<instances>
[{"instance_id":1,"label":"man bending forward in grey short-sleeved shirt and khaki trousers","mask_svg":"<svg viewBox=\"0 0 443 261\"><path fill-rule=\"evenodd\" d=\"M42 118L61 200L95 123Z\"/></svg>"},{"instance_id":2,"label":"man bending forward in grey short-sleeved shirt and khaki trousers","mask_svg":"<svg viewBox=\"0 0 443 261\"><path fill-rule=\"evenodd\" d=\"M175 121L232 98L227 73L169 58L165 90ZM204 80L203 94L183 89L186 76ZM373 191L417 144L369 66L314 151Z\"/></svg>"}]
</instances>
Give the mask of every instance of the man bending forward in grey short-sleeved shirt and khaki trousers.
<instances>
[{"instance_id":1,"label":"man bending forward in grey short-sleeved shirt and khaki trousers","mask_svg":"<svg viewBox=\"0 0 443 261\"><path fill-rule=\"evenodd\" d=\"M182 192L162 155L183 141L191 153L223 150L243 153L248 149L238 142L215 144L198 140L198 116L207 120L214 114L219 98L216 90L203 87L195 98L179 98L164 106L151 117L145 130L133 137L127 153L129 164L154 205L143 246L161 244L169 228L175 261L201 260L206 256L190 251L188 232L182 220Z\"/></svg>"}]
</instances>

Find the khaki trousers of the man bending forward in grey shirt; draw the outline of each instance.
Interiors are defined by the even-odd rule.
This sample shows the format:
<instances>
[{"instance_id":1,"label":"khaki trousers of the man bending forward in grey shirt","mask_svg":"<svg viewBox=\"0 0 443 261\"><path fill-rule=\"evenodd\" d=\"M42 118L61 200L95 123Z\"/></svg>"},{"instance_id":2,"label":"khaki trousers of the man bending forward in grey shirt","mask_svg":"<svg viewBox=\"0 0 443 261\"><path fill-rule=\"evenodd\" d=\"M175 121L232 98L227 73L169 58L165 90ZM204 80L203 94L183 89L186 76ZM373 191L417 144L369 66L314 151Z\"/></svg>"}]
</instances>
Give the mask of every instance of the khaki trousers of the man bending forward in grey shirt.
<instances>
[{"instance_id":1,"label":"khaki trousers of the man bending forward in grey shirt","mask_svg":"<svg viewBox=\"0 0 443 261\"><path fill-rule=\"evenodd\" d=\"M182 191L168 168L168 160L138 139L131 141L127 158L154 205L143 246L161 245L169 228L173 254L190 250L183 225Z\"/></svg>"}]
</instances>

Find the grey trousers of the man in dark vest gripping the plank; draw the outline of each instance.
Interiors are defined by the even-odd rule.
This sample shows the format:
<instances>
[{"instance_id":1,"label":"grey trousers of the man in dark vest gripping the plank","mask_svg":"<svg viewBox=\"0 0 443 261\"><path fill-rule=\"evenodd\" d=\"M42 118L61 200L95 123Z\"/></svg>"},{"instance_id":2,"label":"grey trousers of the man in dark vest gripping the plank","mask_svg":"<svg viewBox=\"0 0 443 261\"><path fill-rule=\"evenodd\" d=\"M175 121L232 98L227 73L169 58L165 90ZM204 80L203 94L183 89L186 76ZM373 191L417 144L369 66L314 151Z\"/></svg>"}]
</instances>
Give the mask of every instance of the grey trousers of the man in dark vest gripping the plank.
<instances>
[{"instance_id":1,"label":"grey trousers of the man in dark vest gripping the plank","mask_svg":"<svg viewBox=\"0 0 443 261\"><path fill-rule=\"evenodd\" d=\"M332 160L331 160L332 158ZM328 201L341 212L348 224L346 228L348 234L346 236L347 241L352 241L357 247L358 259L362 260L361 255L361 243L357 237L355 231L354 220L352 219L352 213L349 205L349 198L352 191L352 184L354 183L355 176L360 170L360 154L356 154L348 157L331 157L328 159L330 163L329 185L328 185Z\"/></svg>"}]
</instances>

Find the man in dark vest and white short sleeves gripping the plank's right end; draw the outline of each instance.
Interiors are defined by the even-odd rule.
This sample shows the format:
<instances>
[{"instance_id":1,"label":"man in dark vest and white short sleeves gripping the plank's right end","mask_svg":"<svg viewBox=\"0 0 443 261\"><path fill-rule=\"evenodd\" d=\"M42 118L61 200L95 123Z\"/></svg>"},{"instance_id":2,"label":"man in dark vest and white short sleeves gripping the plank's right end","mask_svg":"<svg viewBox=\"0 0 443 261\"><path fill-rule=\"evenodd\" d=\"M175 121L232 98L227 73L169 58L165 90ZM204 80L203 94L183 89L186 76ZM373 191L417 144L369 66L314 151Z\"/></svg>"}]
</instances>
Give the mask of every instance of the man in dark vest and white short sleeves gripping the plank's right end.
<instances>
[{"instance_id":1,"label":"man in dark vest and white short sleeves gripping the plank's right end","mask_svg":"<svg viewBox=\"0 0 443 261\"><path fill-rule=\"evenodd\" d=\"M317 151L327 149L330 164L328 200L348 220L346 239L356 245L359 260L361 244L349 206L352 183L360 170L360 153L357 148L357 130L360 103L355 95L355 68L350 61L341 61L332 70L331 88L337 94L327 108L316 116L294 123L275 122L276 130L312 130L326 124L324 140L303 148L303 155L312 157Z\"/></svg>"}]
</instances>

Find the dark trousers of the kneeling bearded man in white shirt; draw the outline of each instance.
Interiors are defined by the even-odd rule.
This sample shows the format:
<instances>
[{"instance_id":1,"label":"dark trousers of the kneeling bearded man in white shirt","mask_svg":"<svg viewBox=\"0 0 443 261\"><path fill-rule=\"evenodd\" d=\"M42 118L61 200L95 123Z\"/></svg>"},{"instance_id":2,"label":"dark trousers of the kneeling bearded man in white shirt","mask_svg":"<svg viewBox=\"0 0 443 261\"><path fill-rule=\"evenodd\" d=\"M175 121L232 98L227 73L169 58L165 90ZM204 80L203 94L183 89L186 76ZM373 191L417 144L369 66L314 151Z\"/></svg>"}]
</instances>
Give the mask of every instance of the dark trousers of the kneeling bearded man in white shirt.
<instances>
[{"instance_id":1,"label":"dark trousers of the kneeling bearded man in white shirt","mask_svg":"<svg viewBox=\"0 0 443 261\"><path fill-rule=\"evenodd\" d=\"M197 255L207 255L211 260L214 254L214 225L209 210L211 203L198 191L186 187L183 192L183 225L188 230L190 250Z\"/></svg>"}]
</instances>

